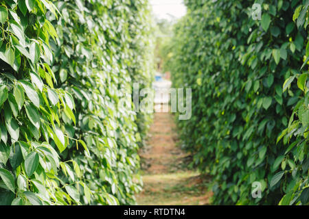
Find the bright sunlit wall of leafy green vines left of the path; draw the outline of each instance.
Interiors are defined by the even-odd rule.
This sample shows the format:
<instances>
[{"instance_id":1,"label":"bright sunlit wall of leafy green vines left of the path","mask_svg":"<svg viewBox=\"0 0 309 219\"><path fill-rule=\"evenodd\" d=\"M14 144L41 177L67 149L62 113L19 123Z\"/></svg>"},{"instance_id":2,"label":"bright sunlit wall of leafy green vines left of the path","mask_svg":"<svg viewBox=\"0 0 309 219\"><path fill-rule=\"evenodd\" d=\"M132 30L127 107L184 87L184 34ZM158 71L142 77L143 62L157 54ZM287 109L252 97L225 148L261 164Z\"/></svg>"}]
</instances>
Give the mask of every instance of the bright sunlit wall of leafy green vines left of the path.
<instances>
[{"instance_id":1,"label":"bright sunlit wall of leafy green vines left of the path","mask_svg":"<svg viewBox=\"0 0 309 219\"><path fill-rule=\"evenodd\" d=\"M151 82L148 16L144 0L1 1L2 205L135 203L143 124L118 103Z\"/></svg>"}]
</instances>

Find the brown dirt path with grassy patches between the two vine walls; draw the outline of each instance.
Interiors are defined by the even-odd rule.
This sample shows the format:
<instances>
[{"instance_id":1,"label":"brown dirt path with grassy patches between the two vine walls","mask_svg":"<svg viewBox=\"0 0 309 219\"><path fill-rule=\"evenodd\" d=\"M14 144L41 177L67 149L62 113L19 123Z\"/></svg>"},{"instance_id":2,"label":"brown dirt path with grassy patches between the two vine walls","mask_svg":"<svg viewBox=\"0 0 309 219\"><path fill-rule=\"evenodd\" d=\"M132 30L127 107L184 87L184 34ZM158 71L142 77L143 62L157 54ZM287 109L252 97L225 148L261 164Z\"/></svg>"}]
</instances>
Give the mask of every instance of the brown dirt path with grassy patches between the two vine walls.
<instances>
[{"instance_id":1,"label":"brown dirt path with grassy patches between the two vine walls","mask_svg":"<svg viewBox=\"0 0 309 219\"><path fill-rule=\"evenodd\" d=\"M140 151L144 190L138 205L207 205L211 192L198 172L187 170L185 154L176 146L176 130L169 113L156 113L147 146Z\"/></svg>"}]
</instances>

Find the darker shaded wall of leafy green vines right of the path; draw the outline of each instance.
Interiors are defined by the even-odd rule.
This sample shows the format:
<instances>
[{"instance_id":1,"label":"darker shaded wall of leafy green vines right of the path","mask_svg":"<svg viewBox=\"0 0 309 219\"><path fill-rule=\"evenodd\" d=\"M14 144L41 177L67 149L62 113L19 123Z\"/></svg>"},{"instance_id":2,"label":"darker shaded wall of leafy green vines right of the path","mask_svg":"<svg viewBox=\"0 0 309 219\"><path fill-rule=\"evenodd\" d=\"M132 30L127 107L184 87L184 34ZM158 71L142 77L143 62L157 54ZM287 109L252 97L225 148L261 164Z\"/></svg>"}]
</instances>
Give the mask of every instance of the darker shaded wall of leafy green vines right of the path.
<instances>
[{"instance_id":1,"label":"darker shaded wall of leafy green vines right of the path","mask_svg":"<svg viewBox=\"0 0 309 219\"><path fill-rule=\"evenodd\" d=\"M308 1L185 3L167 66L175 87L193 89L192 118L178 125L213 176L213 203L308 204Z\"/></svg>"}]
</instances>

